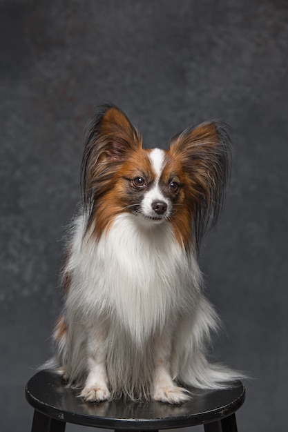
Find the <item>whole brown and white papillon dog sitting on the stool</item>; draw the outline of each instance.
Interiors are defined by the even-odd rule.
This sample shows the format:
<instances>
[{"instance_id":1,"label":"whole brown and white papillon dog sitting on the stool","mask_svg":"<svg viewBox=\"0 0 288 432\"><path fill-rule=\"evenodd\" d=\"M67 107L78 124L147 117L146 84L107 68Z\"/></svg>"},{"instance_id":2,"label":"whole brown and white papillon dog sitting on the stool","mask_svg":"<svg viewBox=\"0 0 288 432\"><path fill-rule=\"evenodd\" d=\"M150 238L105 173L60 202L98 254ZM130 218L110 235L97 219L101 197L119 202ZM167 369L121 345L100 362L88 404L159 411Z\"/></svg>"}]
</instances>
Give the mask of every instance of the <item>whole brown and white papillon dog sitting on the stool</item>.
<instances>
[{"instance_id":1,"label":"whole brown and white papillon dog sitting on the stool","mask_svg":"<svg viewBox=\"0 0 288 432\"><path fill-rule=\"evenodd\" d=\"M116 106L90 121L52 362L84 400L180 404L191 397L186 387L217 389L238 378L207 358L218 316L198 265L202 235L222 208L229 159L218 121L185 129L166 151L144 150Z\"/></svg>"}]
</instances>

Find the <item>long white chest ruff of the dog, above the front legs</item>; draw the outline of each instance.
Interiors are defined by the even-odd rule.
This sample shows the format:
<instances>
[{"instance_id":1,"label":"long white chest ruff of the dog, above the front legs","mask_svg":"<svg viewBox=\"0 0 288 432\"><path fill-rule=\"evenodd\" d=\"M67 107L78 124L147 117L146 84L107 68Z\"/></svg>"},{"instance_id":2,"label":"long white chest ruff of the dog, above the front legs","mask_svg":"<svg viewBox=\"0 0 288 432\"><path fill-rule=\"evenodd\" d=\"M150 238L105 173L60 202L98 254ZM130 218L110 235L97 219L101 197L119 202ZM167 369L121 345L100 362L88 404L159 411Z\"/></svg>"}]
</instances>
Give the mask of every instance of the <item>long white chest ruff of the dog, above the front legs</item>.
<instances>
[{"instance_id":1,"label":"long white chest ruff of the dog, above the front legs","mask_svg":"<svg viewBox=\"0 0 288 432\"><path fill-rule=\"evenodd\" d=\"M140 342L193 307L200 271L175 241L169 222L145 226L124 213L98 242L81 242L80 220L76 226L70 311L89 321L109 318Z\"/></svg>"}]
</instances>

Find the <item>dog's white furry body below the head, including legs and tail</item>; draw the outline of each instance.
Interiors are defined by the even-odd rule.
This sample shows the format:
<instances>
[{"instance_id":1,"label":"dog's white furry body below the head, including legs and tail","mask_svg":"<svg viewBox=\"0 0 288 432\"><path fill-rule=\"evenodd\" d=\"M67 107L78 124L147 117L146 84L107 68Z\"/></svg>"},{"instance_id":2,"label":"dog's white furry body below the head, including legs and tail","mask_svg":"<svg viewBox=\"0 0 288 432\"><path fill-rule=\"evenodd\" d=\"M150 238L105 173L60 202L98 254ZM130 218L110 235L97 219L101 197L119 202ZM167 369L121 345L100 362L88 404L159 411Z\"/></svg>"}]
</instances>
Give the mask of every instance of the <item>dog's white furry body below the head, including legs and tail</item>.
<instances>
[{"instance_id":1,"label":"dog's white furry body below the head, including legs and tail","mask_svg":"<svg viewBox=\"0 0 288 432\"><path fill-rule=\"evenodd\" d=\"M123 213L98 243L83 237L85 217L75 221L59 362L71 383L86 380L86 400L124 393L180 403L189 393L177 383L217 388L236 378L207 362L204 346L218 320L195 257L169 222L141 221Z\"/></svg>"}]
</instances>

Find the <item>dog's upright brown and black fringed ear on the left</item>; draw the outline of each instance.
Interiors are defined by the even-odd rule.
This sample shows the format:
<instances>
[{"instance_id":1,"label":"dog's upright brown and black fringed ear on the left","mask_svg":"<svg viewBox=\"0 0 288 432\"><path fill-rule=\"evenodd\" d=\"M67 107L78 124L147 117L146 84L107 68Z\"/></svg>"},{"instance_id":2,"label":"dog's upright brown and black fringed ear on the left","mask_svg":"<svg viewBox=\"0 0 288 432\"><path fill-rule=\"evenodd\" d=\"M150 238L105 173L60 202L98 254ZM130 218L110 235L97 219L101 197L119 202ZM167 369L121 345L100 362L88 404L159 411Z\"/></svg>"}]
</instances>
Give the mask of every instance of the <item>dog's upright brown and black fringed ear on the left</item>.
<instances>
[{"instance_id":1,"label":"dog's upright brown and black fringed ear on the left","mask_svg":"<svg viewBox=\"0 0 288 432\"><path fill-rule=\"evenodd\" d=\"M105 192L128 155L142 148L142 137L122 110L105 105L88 123L84 144L81 186L86 205Z\"/></svg>"}]
</instances>

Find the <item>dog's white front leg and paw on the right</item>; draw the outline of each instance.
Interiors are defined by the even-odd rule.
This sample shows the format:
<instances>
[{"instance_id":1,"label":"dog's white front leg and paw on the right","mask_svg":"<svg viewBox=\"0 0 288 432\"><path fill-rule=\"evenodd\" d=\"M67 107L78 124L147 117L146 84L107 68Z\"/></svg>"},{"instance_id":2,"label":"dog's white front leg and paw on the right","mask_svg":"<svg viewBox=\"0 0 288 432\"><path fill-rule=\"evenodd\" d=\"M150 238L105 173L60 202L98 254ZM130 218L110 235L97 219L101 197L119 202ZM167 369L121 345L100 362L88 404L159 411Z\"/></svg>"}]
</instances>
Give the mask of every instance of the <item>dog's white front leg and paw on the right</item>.
<instances>
[{"instance_id":1,"label":"dog's white front leg and paw on the right","mask_svg":"<svg viewBox=\"0 0 288 432\"><path fill-rule=\"evenodd\" d=\"M176 386L171 377L171 331L163 332L155 343L155 375L153 399L181 404L190 399L189 391Z\"/></svg>"}]
</instances>

